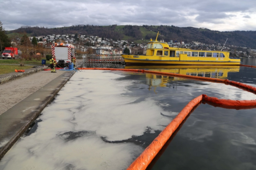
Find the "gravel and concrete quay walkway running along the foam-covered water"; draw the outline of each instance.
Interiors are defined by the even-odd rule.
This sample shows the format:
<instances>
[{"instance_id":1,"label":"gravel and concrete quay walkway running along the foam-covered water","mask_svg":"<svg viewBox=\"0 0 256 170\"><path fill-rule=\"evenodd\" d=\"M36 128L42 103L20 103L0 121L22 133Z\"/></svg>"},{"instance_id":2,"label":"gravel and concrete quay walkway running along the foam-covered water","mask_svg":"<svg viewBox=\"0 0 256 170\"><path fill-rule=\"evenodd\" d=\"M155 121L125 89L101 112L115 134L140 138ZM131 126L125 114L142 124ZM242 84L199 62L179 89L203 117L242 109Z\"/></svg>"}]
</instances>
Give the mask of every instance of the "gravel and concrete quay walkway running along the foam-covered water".
<instances>
[{"instance_id":1,"label":"gravel and concrete quay walkway running along the foam-covered water","mask_svg":"<svg viewBox=\"0 0 256 170\"><path fill-rule=\"evenodd\" d=\"M81 66L83 60L77 63ZM0 159L74 73L74 70L40 71L0 84Z\"/></svg>"}]
</instances>

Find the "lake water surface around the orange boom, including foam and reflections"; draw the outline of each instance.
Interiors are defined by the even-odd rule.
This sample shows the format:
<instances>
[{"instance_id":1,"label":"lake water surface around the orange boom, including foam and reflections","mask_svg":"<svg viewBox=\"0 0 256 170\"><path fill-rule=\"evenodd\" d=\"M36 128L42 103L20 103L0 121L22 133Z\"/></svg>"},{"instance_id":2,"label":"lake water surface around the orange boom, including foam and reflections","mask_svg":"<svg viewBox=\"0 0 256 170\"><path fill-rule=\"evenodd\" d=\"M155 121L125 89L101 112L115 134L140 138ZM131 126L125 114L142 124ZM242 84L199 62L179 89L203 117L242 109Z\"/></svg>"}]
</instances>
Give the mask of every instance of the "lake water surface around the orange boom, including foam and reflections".
<instances>
[{"instance_id":1,"label":"lake water surface around the orange boom, including foam and reflections","mask_svg":"<svg viewBox=\"0 0 256 170\"><path fill-rule=\"evenodd\" d=\"M242 62L256 65L255 59ZM125 68L229 79L256 87L256 68L250 67ZM220 83L82 70L73 75L35 125L6 153L0 169L124 170L189 101L201 94L231 100L256 99L253 93ZM199 105L148 169L256 169L255 113L256 109Z\"/></svg>"}]
</instances>

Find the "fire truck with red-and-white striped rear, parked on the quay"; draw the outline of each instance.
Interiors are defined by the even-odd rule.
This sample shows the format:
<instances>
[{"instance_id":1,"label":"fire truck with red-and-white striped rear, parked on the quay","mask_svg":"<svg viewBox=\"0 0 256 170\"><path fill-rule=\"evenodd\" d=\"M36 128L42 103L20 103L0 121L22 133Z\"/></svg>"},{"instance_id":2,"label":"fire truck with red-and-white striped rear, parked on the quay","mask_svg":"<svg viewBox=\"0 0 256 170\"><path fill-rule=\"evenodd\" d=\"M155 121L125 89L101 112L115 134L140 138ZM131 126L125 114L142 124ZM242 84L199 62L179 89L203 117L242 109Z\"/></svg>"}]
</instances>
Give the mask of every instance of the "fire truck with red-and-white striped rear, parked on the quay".
<instances>
[{"instance_id":1,"label":"fire truck with red-and-white striped rear, parked on the quay","mask_svg":"<svg viewBox=\"0 0 256 170\"><path fill-rule=\"evenodd\" d=\"M71 56L75 55L75 46L65 43L53 43L52 55L56 56L59 66L68 66L67 64L71 62Z\"/></svg>"}]
</instances>

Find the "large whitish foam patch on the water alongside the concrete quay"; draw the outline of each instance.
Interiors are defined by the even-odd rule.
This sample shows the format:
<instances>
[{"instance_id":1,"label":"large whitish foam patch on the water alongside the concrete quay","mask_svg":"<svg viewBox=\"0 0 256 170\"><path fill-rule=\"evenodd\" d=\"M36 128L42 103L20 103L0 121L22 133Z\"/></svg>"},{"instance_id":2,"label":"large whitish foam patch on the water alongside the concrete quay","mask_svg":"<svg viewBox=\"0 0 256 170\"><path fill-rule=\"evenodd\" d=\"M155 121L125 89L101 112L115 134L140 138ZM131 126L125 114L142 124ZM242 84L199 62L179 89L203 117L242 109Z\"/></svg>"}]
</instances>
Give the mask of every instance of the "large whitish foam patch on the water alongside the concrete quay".
<instances>
[{"instance_id":1,"label":"large whitish foam patch on the water alongside the concrete quay","mask_svg":"<svg viewBox=\"0 0 256 170\"><path fill-rule=\"evenodd\" d=\"M129 95L132 82L116 80L124 76L102 70L74 74L43 110L37 130L6 153L0 169L126 169L144 148L101 137L122 141L147 127L154 133L172 120L161 112L178 113L164 111L150 97L138 102L140 97Z\"/></svg>"}]
</instances>

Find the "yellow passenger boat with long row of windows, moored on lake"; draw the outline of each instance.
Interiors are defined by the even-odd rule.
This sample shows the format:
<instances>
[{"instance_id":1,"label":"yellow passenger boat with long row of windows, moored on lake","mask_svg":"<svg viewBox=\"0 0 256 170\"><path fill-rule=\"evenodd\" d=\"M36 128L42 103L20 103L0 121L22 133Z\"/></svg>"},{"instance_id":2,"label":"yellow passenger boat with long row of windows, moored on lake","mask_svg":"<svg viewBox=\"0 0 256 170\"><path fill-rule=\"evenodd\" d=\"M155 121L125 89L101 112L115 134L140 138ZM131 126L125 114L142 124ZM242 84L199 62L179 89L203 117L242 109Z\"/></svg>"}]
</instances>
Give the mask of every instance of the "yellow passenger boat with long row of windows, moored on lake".
<instances>
[{"instance_id":1,"label":"yellow passenger boat with long row of windows, moored on lake","mask_svg":"<svg viewBox=\"0 0 256 170\"><path fill-rule=\"evenodd\" d=\"M150 40L146 55L126 55L122 57L126 64L153 65L239 65L240 58L229 57L228 51L191 50L169 47L166 42Z\"/></svg>"}]
</instances>

